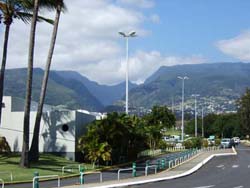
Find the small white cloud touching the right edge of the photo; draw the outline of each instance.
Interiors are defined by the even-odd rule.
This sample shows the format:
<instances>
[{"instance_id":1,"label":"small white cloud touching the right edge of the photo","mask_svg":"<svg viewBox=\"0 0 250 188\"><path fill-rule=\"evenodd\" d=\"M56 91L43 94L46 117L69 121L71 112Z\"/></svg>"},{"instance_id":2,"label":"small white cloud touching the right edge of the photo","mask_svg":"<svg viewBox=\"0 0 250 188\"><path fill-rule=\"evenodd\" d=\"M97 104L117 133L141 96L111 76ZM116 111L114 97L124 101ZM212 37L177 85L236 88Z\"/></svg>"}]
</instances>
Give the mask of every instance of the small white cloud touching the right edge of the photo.
<instances>
[{"instance_id":1,"label":"small white cloud touching the right edge of the photo","mask_svg":"<svg viewBox=\"0 0 250 188\"><path fill-rule=\"evenodd\" d=\"M242 32L234 38L220 40L216 46L229 56L241 61L250 61L250 30Z\"/></svg>"}]
</instances>

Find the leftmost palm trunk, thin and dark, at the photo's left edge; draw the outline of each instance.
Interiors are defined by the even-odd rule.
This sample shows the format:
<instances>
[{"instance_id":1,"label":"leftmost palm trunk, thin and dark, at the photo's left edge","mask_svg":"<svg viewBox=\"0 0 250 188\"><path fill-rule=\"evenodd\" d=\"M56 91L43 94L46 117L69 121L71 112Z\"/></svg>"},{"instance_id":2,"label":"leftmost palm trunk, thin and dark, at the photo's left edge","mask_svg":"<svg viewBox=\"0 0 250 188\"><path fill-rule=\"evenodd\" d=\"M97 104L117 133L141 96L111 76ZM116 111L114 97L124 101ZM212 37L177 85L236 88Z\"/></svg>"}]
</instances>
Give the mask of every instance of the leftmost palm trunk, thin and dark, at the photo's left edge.
<instances>
[{"instance_id":1,"label":"leftmost palm trunk, thin and dark, at the photo's left edge","mask_svg":"<svg viewBox=\"0 0 250 188\"><path fill-rule=\"evenodd\" d=\"M4 34L4 44L3 44L3 59L0 72L0 126L1 126L1 117L2 117L2 103L3 103L3 90L4 90L4 73L5 66L7 61L7 50L8 50L8 40L9 40L10 24L5 26Z\"/></svg>"}]
</instances>

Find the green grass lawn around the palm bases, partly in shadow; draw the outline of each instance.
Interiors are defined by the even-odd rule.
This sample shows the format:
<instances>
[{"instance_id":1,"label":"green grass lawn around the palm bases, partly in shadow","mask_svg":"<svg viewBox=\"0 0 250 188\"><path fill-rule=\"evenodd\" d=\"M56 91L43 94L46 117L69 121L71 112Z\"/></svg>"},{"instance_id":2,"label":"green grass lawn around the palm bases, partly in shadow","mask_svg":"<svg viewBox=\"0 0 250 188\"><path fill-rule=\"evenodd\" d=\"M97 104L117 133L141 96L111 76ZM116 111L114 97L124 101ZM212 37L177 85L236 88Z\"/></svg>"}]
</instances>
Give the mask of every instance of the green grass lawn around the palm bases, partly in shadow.
<instances>
[{"instance_id":1,"label":"green grass lawn around the palm bases, partly in shadow","mask_svg":"<svg viewBox=\"0 0 250 188\"><path fill-rule=\"evenodd\" d=\"M39 172L40 176L44 175L59 175L62 176L62 167L73 165L73 172L66 171L64 176L79 173L78 165L80 163L69 161L63 157L58 157L51 154L42 154L38 163L32 163L30 168L21 168L19 166L20 155L0 154L0 179L5 182L10 182L10 172L13 174L13 182L32 181L34 172ZM82 164L83 165L83 164ZM84 164L85 168L91 168L91 165ZM72 168L72 167L70 167ZM6 172L6 173L5 173Z\"/></svg>"}]
</instances>

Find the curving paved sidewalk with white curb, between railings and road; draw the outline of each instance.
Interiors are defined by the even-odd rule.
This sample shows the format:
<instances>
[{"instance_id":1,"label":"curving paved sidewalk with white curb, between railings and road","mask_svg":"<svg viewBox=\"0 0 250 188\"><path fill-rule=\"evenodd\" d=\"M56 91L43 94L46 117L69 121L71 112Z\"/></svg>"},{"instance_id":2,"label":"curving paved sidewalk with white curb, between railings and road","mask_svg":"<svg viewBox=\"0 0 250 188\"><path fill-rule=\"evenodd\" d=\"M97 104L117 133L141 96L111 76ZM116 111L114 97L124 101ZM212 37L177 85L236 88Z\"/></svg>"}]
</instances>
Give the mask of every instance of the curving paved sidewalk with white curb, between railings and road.
<instances>
[{"instance_id":1,"label":"curving paved sidewalk with white curb, between railings and road","mask_svg":"<svg viewBox=\"0 0 250 188\"><path fill-rule=\"evenodd\" d=\"M84 185L73 185L66 186L64 188L109 188L109 187L122 187L128 185L138 185L162 180L175 179L183 176L187 176L189 174L194 173L199 168L201 168L205 163L207 163L210 159L215 156L227 156L227 155L237 155L235 149L226 149L226 150L215 150L215 151L202 151L197 154L193 158L185 161L184 163L170 169L165 170L160 173L149 175L149 176L141 176L136 178L128 178L122 180L114 180L114 181L105 181L102 183L90 183Z\"/></svg>"}]
</instances>

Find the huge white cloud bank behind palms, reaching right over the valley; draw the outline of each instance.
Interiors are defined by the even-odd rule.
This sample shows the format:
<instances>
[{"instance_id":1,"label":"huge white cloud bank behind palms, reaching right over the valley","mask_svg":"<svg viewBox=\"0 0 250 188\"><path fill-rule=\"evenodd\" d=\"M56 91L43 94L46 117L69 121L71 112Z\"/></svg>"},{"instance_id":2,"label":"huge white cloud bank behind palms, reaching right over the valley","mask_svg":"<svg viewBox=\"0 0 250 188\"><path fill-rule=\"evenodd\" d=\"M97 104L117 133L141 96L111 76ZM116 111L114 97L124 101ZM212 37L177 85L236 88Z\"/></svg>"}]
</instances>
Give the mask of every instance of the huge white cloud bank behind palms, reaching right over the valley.
<instances>
[{"instance_id":1,"label":"huge white cloud bank behind palms, reaching right over the valley","mask_svg":"<svg viewBox=\"0 0 250 188\"><path fill-rule=\"evenodd\" d=\"M62 14L51 69L75 70L98 81L114 84L125 78L125 45L118 31L136 30L140 37L150 31L143 28L146 18L140 9L126 8L111 0L65 0L68 11ZM135 0L143 7L152 7L153 1ZM125 3L125 0L123 0ZM52 13L44 13L53 18ZM152 14L153 15L153 14ZM151 16L152 17L152 16ZM153 20L160 18L155 15ZM27 67L29 25L15 21L11 26L7 68ZM0 29L1 31L1 29ZM39 23L37 28L35 67L44 68L52 26ZM3 36L3 33L2 33ZM3 43L3 37L0 44ZM1 54L2 48L0 48ZM184 63L202 63L200 56L172 57L158 51L138 50L130 57L130 79L141 83L160 66Z\"/></svg>"}]
</instances>

